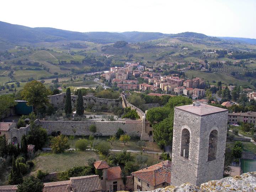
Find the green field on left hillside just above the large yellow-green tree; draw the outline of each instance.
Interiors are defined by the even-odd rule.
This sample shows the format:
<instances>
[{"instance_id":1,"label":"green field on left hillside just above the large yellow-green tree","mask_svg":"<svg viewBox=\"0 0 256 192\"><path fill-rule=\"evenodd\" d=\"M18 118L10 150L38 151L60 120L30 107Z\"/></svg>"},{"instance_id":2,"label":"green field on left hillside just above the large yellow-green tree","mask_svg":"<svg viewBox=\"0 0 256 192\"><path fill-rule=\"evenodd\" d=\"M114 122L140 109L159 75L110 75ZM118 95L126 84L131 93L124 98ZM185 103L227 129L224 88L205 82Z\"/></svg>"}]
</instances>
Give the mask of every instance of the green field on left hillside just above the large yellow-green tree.
<instances>
[{"instance_id":1,"label":"green field on left hillside just above the large yellow-green tree","mask_svg":"<svg viewBox=\"0 0 256 192\"><path fill-rule=\"evenodd\" d=\"M49 76L52 76L52 74L50 74L45 70L16 70L14 71L13 76L17 81L20 81L20 80L27 80L28 78L31 78L31 77L33 77L36 80L41 77L47 78Z\"/></svg>"}]
</instances>

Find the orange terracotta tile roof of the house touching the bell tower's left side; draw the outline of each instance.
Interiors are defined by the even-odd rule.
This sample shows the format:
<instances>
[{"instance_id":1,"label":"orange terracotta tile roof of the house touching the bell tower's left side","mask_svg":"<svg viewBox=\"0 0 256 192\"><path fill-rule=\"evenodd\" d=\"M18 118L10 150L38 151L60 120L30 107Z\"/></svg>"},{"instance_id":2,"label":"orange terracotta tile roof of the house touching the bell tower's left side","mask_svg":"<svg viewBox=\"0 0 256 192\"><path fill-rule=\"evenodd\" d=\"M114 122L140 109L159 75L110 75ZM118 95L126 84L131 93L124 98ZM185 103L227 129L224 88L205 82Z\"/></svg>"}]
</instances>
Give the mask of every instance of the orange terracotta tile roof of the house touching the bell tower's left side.
<instances>
[{"instance_id":1,"label":"orange terracotta tile roof of the house touching the bell tower's left side","mask_svg":"<svg viewBox=\"0 0 256 192\"><path fill-rule=\"evenodd\" d=\"M145 169L135 171L132 175L152 186L157 186L164 182L171 183L171 161L160 162Z\"/></svg>"}]
</instances>

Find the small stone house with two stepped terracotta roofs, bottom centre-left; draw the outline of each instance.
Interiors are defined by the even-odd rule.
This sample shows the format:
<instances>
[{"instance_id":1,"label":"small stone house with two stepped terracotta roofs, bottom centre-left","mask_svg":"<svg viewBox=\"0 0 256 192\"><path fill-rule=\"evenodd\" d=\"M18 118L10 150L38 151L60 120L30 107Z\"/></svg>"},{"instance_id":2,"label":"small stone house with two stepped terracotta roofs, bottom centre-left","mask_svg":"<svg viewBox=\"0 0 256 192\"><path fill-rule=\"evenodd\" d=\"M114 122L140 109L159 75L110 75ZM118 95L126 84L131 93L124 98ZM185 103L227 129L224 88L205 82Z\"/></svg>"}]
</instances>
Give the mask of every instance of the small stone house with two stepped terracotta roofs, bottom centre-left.
<instances>
[{"instance_id":1,"label":"small stone house with two stepped terracotta roofs, bottom centre-left","mask_svg":"<svg viewBox=\"0 0 256 192\"><path fill-rule=\"evenodd\" d=\"M125 190L120 166L110 167L106 161L95 161L96 170L102 171L100 178L103 192L115 192Z\"/></svg>"}]
</instances>

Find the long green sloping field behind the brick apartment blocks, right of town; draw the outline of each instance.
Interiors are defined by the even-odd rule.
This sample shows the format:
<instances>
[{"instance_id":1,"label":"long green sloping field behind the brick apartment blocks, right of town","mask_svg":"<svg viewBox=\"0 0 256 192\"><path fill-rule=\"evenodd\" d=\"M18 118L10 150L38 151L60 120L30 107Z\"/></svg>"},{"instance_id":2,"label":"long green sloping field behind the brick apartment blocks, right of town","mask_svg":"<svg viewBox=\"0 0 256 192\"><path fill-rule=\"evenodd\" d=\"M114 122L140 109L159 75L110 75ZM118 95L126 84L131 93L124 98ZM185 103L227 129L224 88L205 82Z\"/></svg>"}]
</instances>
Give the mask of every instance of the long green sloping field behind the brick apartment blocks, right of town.
<instances>
[{"instance_id":1,"label":"long green sloping field behind the brick apartment blocks, right of town","mask_svg":"<svg viewBox=\"0 0 256 192\"><path fill-rule=\"evenodd\" d=\"M201 72L201 71L186 71L185 74L188 76L188 78L192 78L192 76L193 76L194 78L195 77L202 78L209 82L212 82L213 80L216 82L222 81L222 83L225 85L236 84L236 85L248 85L250 87L252 86L246 81L241 81L241 80L235 79L231 76L221 74L221 73L205 73L205 72Z\"/></svg>"}]
</instances>

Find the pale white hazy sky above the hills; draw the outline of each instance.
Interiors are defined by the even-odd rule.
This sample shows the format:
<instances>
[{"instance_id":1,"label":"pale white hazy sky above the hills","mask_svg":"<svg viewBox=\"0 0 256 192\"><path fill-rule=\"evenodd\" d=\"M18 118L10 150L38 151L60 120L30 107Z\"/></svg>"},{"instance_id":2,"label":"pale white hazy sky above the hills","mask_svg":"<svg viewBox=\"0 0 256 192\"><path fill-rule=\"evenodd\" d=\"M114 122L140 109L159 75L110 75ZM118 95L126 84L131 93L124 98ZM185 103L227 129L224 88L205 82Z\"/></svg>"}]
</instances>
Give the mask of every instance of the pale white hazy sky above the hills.
<instances>
[{"instance_id":1,"label":"pale white hazy sky above the hills","mask_svg":"<svg viewBox=\"0 0 256 192\"><path fill-rule=\"evenodd\" d=\"M2 0L0 21L79 32L256 38L256 0Z\"/></svg>"}]
</instances>

